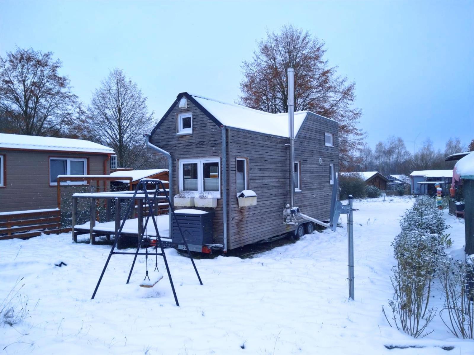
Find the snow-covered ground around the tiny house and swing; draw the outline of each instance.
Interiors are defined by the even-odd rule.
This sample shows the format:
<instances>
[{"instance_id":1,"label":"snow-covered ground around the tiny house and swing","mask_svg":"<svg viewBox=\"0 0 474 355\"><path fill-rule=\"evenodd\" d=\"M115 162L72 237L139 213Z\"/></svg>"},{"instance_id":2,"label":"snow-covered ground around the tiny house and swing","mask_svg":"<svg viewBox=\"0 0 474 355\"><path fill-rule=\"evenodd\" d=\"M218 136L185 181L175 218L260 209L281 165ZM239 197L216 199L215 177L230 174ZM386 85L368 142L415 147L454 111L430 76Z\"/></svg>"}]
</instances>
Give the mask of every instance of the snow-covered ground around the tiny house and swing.
<instances>
[{"instance_id":1,"label":"snow-covered ground around the tiny house and swing","mask_svg":"<svg viewBox=\"0 0 474 355\"><path fill-rule=\"evenodd\" d=\"M196 260L202 286L190 260L168 250L181 307L166 275L154 288L138 286L144 259L125 284L131 256L112 257L91 301L109 246L73 244L70 234L1 241L0 302L24 277L29 317L0 326L0 352L7 346L6 354L474 354L474 341L453 338L439 317L423 339L391 328L383 317L392 294L391 242L412 202L355 201L355 302L347 300L345 226L251 259ZM464 224L445 213L459 253ZM67 266L54 266L58 261ZM441 306L436 292L432 304Z\"/></svg>"}]
</instances>

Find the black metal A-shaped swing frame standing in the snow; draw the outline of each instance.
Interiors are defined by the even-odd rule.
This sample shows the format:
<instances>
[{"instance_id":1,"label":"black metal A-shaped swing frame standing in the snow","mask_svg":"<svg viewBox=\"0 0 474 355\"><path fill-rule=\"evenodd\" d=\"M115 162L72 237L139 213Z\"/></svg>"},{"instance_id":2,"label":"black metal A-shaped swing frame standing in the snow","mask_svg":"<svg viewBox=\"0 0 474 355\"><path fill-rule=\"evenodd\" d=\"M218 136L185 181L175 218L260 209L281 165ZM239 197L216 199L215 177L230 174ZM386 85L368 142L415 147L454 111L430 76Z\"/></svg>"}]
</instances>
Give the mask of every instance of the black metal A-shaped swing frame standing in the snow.
<instances>
[{"instance_id":1,"label":"black metal A-shaped swing frame standing in the snow","mask_svg":"<svg viewBox=\"0 0 474 355\"><path fill-rule=\"evenodd\" d=\"M150 196L150 194L148 193L147 185L154 185L155 186L153 196ZM146 255L146 256L155 255L156 257L158 257L158 256L163 257L164 266L166 267L166 272L167 272L168 278L170 280L171 289L173 290L174 301L176 302L176 306L179 306L178 297L176 296L176 291L175 291L174 285L173 285L173 279L171 277L170 268L168 266L168 261L166 260L166 254L164 252L163 242L161 240L160 233L158 231L158 224L156 222L156 217L155 217L155 213L154 213L155 203L157 204L157 201L158 201L158 194L162 191L164 192L164 197L166 198L166 200L168 202L168 205L169 205L169 216L170 216L170 218L174 218L174 221L176 222L176 225L177 225L178 230L179 230L179 232L181 234L181 237L182 237L183 245L186 248L186 251L188 253L189 258L191 259L191 263L192 263L192 266L194 267L194 271L196 272L196 275L198 276L199 283L202 285L201 276L199 275L198 269L196 268L196 264L194 263L194 259L191 256L191 252L189 250L188 243L186 242L186 239L184 238L184 234L182 232L181 226L180 226L180 224L179 224L179 222L178 222L178 220L177 220L177 218L174 214L174 210L173 210L173 206L171 204L169 194L166 191L166 189L164 188L163 182L159 179L145 178L145 179L141 179L140 182L137 184L137 187L135 188L133 196L130 199L130 204L128 205L128 209L127 209L127 213L126 213L126 216L128 216L131 213L132 208L135 205L135 198L136 198L137 194L139 192L140 193L143 192L143 194L145 196L144 202L146 202L146 204L148 204L148 213L146 215L145 224L144 224L143 228L141 229L141 231L138 235L139 240L138 240L137 250L134 253L115 251L115 248L117 246L117 242L122 236L122 230L123 230L123 227L125 225L126 219L123 219L123 221L120 223L120 227L118 228L117 235L115 236L114 242L112 244L112 248L110 249L109 256L107 257L107 261L105 262L104 268L102 269L102 273L100 274L99 281L97 282L97 285L95 286L94 293L92 293L91 300L93 300L95 298L97 290L99 289L100 282L102 281L102 277L105 274L105 270L107 269L107 266L109 265L109 261L110 261L110 258L112 257L112 255L116 255L116 254L134 255L132 266L130 267L130 272L128 273L127 284L130 282L130 277L132 275L133 268L135 266L135 262L137 261L137 256L138 255ZM144 253L144 252L140 252L140 248L142 246L143 237L146 233L146 226L148 225L148 221L150 220L150 217L152 218L153 225L155 227L157 244L154 247L155 253L148 253L147 250ZM170 233L171 233L171 231L170 231ZM159 252L159 253L158 253L158 247L161 250L161 252Z\"/></svg>"}]
</instances>

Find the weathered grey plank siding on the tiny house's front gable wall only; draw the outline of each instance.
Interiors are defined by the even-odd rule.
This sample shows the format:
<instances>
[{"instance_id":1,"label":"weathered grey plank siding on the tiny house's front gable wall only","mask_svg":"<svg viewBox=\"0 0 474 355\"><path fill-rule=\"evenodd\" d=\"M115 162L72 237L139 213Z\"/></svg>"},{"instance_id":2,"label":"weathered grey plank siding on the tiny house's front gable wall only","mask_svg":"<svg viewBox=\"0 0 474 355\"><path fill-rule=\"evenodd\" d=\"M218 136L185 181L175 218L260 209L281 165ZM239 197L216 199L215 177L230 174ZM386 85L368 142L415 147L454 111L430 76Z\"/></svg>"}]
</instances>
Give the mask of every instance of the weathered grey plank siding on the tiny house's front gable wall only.
<instances>
[{"instance_id":1,"label":"weathered grey plank siding on the tiny house's front gable wall only","mask_svg":"<svg viewBox=\"0 0 474 355\"><path fill-rule=\"evenodd\" d=\"M171 153L173 159L173 192L171 197L179 191L180 159L192 158L222 158L222 130L202 113L190 100L187 108L179 108L177 103L163 120L160 127L150 137L150 142ZM192 134L176 135L177 115L183 112L192 112ZM221 161L221 191L222 191L222 161ZM205 210L205 209L204 209ZM223 215L222 195L217 200L214 211L214 242L223 243Z\"/></svg>"}]
</instances>

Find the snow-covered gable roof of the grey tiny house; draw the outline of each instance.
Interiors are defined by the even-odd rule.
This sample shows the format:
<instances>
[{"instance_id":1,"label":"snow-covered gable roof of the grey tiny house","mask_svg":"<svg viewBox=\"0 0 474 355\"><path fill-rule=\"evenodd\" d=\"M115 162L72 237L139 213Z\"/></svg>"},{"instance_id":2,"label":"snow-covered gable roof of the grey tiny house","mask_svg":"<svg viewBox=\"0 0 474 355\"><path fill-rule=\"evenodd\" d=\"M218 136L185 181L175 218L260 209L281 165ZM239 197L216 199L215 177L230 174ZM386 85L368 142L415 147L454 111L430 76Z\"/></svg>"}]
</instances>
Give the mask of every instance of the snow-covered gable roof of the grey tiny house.
<instances>
[{"instance_id":1,"label":"snow-covered gable roof of the grey tiny house","mask_svg":"<svg viewBox=\"0 0 474 355\"><path fill-rule=\"evenodd\" d=\"M155 133L156 129L161 125L162 121L166 118L167 115L169 115L171 110L174 108L174 106L176 106L178 101L183 96L188 98L194 105L196 105L196 107L198 107L202 112L204 112L218 126L225 125L229 128L237 128L252 132L271 134L285 138L289 136L288 113L271 114L268 112L255 110L250 107L230 104L212 98L207 98L202 95L191 94L188 92L182 92L177 96L173 105L164 114L164 116L158 122L151 134ZM312 113L310 111L297 111L294 113L295 135L298 134L304 120L306 119L309 113L330 121L334 121L330 118Z\"/></svg>"}]
</instances>

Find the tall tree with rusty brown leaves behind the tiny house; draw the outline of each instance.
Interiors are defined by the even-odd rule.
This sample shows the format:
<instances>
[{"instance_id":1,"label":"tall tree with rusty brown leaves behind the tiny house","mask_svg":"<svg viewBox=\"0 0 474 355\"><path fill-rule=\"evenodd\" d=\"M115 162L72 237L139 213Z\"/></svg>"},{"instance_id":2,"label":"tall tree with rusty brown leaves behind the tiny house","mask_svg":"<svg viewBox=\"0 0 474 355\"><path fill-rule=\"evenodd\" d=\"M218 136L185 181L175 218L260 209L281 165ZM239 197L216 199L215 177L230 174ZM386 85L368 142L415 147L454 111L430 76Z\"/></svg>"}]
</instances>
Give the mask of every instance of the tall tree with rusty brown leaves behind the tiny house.
<instances>
[{"instance_id":1,"label":"tall tree with rusty brown leaves behind the tiny house","mask_svg":"<svg viewBox=\"0 0 474 355\"><path fill-rule=\"evenodd\" d=\"M308 31L283 26L279 33L267 32L257 44L253 59L243 62L244 80L239 103L271 113L288 111L287 69L294 68L295 110L310 110L339 123L342 169L354 160L365 136L358 127L362 112L353 107L354 82L337 75L324 59L324 43Z\"/></svg>"}]
</instances>

